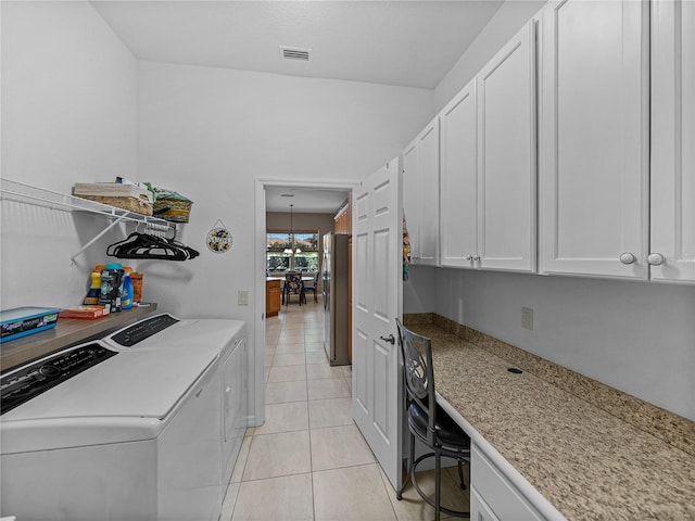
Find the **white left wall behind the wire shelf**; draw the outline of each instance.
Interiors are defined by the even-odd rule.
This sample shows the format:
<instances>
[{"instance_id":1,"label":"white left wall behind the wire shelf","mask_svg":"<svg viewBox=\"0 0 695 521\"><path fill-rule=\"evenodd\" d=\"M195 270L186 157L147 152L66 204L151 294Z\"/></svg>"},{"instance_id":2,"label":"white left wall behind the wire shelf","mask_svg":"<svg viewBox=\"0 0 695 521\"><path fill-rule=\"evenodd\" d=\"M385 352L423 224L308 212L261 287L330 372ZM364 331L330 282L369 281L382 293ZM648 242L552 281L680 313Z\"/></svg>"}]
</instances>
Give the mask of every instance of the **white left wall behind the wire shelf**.
<instances>
[{"instance_id":1,"label":"white left wall behind the wire shelf","mask_svg":"<svg viewBox=\"0 0 695 521\"><path fill-rule=\"evenodd\" d=\"M136 60L89 2L2 2L2 177L70 193L136 174ZM4 309L80 304L114 232L90 215L2 202Z\"/></svg>"}]
</instances>

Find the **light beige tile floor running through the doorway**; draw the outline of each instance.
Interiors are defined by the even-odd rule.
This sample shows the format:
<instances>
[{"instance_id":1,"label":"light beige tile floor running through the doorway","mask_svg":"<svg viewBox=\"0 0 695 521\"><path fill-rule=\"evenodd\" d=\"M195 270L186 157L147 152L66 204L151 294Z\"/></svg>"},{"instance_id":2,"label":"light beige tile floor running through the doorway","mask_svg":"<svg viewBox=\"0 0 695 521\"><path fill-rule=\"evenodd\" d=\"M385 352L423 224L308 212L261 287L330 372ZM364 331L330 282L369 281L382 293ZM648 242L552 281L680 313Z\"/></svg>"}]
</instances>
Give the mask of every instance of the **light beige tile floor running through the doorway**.
<instances>
[{"instance_id":1,"label":"light beige tile floor running through the doorway","mask_svg":"<svg viewBox=\"0 0 695 521\"><path fill-rule=\"evenodd\" d=\"M412 486L396 500L352 420L351 368L328 364L324 308L307 301L266 321L266 421L247 432L220 520L434 519ZM455 469L442 478L442 501L467 509ZM418 483L433 491L433 472L418 474Z\"/></svg>"}]
</instances>

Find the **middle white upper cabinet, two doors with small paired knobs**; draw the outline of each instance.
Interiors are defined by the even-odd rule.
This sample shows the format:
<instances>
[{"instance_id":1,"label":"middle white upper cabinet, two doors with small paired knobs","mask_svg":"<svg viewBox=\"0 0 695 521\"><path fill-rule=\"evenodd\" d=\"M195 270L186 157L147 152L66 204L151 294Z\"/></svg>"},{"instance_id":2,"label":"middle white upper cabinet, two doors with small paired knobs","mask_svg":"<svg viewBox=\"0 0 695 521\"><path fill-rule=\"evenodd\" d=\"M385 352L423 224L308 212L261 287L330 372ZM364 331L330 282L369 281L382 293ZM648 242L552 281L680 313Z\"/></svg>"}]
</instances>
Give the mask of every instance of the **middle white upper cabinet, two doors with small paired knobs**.
<instances>
[{"instance_id":1,"label":"middle white upper cabinet, two doors with small paired knobs","mask_svg":"<svg viewBox=\"0 0 695 521\"><path fill-rule=\"evenodd\" d=\"M535 269L530 22L440 113L441 265Z\"/></svg>"}]
</instances>

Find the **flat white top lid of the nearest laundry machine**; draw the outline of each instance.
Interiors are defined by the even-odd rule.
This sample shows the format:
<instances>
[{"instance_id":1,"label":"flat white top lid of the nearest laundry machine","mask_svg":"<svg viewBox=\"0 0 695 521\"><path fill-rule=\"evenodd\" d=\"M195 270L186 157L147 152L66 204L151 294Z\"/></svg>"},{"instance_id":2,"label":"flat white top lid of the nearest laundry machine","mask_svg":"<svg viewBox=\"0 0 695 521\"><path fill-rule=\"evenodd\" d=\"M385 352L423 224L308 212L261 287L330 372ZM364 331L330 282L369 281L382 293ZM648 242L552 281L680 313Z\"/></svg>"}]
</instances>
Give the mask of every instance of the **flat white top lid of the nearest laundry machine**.
<instances>
[{"instance_id":1,"label":"flat white top lid of the nearest laundry machine","mask_svg":"<svg viewBox=\"0 0 695 521\"><path fill-rule=\"evenodd\" d=\"M218 354L207 345L118 353L2 415L2 422L96 417L165 420Z\"/></svg>"}]
</instances>

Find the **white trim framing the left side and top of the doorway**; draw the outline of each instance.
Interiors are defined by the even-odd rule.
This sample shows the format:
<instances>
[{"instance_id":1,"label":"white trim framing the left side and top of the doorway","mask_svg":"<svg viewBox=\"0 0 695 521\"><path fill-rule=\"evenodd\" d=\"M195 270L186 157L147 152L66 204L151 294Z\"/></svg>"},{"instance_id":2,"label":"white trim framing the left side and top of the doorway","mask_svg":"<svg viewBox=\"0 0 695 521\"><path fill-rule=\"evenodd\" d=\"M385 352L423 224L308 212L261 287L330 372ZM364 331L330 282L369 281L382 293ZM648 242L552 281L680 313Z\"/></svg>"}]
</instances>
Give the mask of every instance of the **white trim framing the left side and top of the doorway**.
<instances>
[{"instance_id":1,"label":"white trim framing the left side and top of the doorway","mask_svg":"<svg viewBox=\"0 0 695 521\"><path fill-rule=\"evenodd\" d=\"M249 391L254 396L253 414L249 427L258 427L265 422L265 257L266 257L266 220L265 220L265 189L266 187L308 188L326 190L352 191L359 185L359 180L315 180L315 179L281 179L256 178L255 180L255 250L254 250L254 292L257 295L254 303L254 371ZM249 404L251 405L251 404Z\"/></svg>"}]
</instances>

